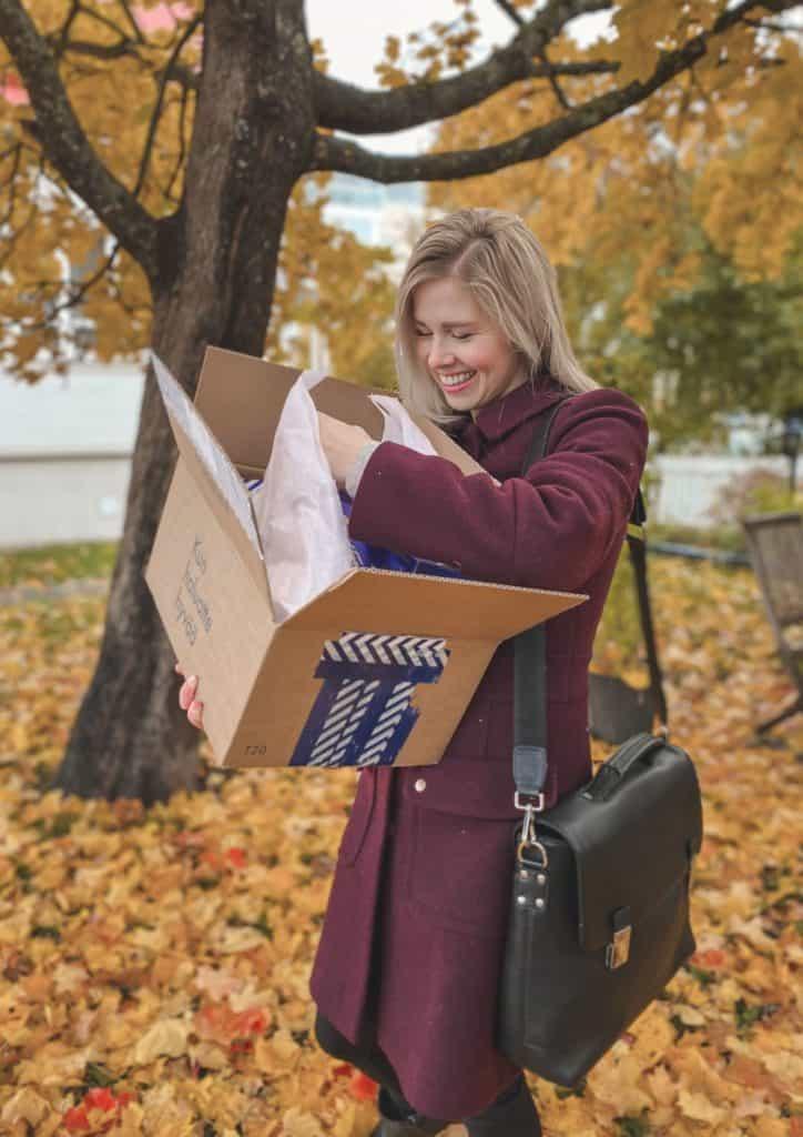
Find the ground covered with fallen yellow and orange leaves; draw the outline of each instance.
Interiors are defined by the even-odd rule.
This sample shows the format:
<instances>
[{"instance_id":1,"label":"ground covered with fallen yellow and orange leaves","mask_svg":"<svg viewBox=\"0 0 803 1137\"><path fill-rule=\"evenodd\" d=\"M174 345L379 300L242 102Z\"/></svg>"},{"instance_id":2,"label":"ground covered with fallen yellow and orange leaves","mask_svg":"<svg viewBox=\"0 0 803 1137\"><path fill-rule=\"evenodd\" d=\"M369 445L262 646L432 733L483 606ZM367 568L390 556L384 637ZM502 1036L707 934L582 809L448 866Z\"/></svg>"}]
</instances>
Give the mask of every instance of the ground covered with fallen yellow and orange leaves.
<instances>
[{"instance_id":1,"label":"ground covered with fallen yellow and orange leaves","mask_svg":"<svg viewBox=\"0 0 803 1137\"><path fill-rule=\"evenodd\" d=\"M529 1081L546 1137L803 1137L803 724L755 738L792 691L750 572L651 575L705 799L697 951L585 1085ZM318 1049L308 991L353 773L211 770L147 811L48 791L102 617L0 608L0 1134L367 1137L376 1087Z\"/></svg>"}]
</instances>

